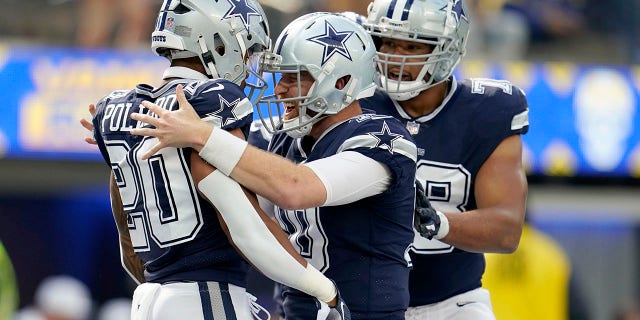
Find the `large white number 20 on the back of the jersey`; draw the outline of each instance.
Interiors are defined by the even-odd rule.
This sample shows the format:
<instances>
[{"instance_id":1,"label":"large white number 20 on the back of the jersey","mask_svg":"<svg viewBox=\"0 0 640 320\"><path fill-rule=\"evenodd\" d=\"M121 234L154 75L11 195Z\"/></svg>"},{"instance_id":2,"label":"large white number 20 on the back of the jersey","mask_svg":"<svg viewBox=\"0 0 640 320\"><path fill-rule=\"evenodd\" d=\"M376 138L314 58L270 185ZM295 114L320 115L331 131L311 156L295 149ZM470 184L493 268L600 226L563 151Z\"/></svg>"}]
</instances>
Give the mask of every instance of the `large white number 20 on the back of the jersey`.
<instances>
[{"instance_id":1,"label":"large white number 20 on the back of the jersey","mask_svg":"<svg viewBox=\"0 0 640 320\"><path fill-rule=\"evenodd\" d=\"M156 138L145 138L133 151L123 141L107 143L136 252L148 251L150 239L161 248L190 241L203 223L183 150L164 148L140 160L156 143ZM140 202L142 208L132 212Z\"/></svg>"}]
</instances>

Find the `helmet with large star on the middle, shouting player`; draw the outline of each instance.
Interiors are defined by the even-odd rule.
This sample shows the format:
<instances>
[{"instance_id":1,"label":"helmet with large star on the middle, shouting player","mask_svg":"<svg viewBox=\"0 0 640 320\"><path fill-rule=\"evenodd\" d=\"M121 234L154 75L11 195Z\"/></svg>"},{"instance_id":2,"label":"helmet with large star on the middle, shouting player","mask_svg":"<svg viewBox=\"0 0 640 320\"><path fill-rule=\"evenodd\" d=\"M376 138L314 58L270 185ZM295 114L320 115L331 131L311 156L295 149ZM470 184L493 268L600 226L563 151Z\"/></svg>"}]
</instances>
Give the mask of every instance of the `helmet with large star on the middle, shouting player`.
<instances>
[{"instance_id":1,"label":"helmet with large star on the middle, shouting player","mask_svg":"<svg viewBox=\"0 0 640 320\"><path fill-rule=\"evenodd\" d=\"M294 74L299 80L301 72L308 72L315 82L304 96L263 97L258 114L265 128L271 133L287 132L292 137L302 137L324 116L372 96L376 89L375 54L371 37L343 15L310 13L291 22L276 40L273 52L264 55L261 69L272 74L274 84L283 73ZM350 76L349 81L344 88L337 89L336 82L345 76ZM298 117L282 119L285 102L299 106Z\"/></svg>"}]
</instances>

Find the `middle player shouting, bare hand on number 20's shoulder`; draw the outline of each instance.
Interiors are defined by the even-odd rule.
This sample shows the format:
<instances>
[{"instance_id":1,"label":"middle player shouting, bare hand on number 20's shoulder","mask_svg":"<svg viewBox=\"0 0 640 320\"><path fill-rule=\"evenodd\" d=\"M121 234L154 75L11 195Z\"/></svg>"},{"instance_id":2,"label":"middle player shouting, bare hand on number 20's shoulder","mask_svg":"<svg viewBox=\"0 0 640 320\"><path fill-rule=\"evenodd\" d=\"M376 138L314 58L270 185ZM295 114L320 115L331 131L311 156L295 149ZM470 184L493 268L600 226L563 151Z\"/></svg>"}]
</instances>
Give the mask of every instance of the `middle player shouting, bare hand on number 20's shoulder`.
<instances>
[{"instance_id":1,"label":"middle player shouting, bare hand on number 20's shoulder","mask_svg":"<svg viewBox=\"0 0 640 320\"><path fill-rule=\"evenodd\" d=\"M159 118L132 117L155 128L132 133L158 138L145 157L190 146L220 171L210 184L229 175L269 200L264 208L336 281L353 319L393 320L409 302L416 149L397 119L360 108L376 89L375 54L371 37L342 15L291 22L262 62L277 79L258 109L274 134L271 153L207 125L184 99L177 111L145 103ZM314 319L311 297L290 286L281 294L287 320Z\"/></svg>"}]
</instances>

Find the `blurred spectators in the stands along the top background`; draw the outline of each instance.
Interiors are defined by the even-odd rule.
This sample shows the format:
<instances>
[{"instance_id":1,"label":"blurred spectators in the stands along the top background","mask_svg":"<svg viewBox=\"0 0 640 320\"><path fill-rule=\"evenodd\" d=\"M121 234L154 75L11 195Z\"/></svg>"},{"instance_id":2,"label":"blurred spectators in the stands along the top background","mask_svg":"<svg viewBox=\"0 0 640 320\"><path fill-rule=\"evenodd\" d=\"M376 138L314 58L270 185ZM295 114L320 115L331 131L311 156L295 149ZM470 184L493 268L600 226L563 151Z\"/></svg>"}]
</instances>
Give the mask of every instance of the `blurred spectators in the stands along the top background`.
<instances>
[{"instance_id":1,"label":"blurred spectators in the stands along the top background","mask_svg":"<svg viewBox=\"0 0 640 320\"><path fill-rule=\"evenodd\" d=\"M640 63L640 0L466 0L469 57ZM147 48L161 0L0 0L0 39L82 47ZM366 14L369 0L260 0L277 35L310 11Z\"/></svg>"}]
</instances>

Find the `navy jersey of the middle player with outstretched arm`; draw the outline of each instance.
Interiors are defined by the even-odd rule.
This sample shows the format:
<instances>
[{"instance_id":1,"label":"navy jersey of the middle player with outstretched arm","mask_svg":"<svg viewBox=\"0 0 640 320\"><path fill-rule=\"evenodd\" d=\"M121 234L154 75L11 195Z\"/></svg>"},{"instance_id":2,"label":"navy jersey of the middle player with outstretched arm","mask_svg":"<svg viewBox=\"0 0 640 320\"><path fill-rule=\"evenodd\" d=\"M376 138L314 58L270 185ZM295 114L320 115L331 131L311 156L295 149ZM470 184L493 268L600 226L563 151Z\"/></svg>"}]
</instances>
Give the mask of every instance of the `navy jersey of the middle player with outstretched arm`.
<instances>
[{"instance_id":1,"label":"navy jersey of the middle player with outstretched arm","mask_svg":"<svg viewBox=\"0 0 640 320\"><path fill-rule=\"evenodd\" d=\"M404 319L409 304L407 250L413 240L415 144L399 121L374 114L340 123L315 143L309 138L277 134L269 150L296 163L359 152L385 164L392 182L381 194L345 205L276 208L276 218L300 255L336 281L353 319ZM304 295L285 288L283 296L287 319L312 319L298 314L305 309L299 304ZM288 305L298 307L287 309Z\"/></svg>"}]
</instances>

